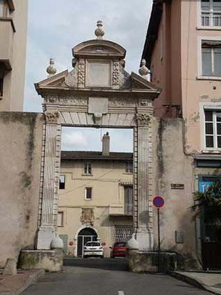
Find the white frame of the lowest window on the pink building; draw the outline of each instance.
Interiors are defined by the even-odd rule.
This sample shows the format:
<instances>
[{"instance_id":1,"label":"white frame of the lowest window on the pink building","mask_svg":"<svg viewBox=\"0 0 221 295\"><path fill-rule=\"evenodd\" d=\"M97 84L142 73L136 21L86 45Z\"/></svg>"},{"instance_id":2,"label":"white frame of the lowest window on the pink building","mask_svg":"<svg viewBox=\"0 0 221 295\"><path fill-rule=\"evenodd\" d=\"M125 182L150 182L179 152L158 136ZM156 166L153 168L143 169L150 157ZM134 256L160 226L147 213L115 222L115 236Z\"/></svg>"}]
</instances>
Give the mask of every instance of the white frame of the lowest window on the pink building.
<instances>
[{"instance_id":1,"label":"white frame of the lowest window on the pink building","mask_svg":"<svg viewBox=\"0 0 221 295\"><path fill-rule=\"evenodd\" d=\"M221 103L200 103L200 144L202 153L221 153L220 148L206 148L205 110L220 112ZM215 134L213 136L215 136Z\"/></svg>"}]
</instances>

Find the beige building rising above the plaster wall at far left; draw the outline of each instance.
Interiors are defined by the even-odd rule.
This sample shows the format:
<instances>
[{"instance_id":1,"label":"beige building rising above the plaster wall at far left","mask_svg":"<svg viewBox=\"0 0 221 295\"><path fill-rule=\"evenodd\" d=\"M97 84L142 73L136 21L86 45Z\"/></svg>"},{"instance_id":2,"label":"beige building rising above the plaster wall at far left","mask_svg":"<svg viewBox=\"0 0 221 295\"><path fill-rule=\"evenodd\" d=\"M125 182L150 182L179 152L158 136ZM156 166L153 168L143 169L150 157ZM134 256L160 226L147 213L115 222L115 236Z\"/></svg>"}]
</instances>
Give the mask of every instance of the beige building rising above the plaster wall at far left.
<instances>
[{"instance_id":1,"label":"beige building rising above the plaster wall at far left","mask_svg":"<svg viewBox=\"0 0 221 295\"><path fill-rule=\"evenodd\" d=\"M0 1L0 111L22 111L28 0Z\"/></svg>"}]
</instances>

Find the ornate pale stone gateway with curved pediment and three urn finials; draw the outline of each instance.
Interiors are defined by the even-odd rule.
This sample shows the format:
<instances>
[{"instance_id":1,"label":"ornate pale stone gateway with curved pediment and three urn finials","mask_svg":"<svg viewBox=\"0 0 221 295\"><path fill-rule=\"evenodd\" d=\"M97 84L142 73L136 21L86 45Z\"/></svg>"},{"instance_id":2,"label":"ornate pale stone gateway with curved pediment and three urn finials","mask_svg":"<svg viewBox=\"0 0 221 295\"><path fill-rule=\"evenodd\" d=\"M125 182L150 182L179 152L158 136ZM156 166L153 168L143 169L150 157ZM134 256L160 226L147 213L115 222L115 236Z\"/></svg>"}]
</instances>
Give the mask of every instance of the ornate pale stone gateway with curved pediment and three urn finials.
<instances>
[{"instance_id":1,"label":"ornate pale stone gateway with curved pediment and three urn finials","mask_svg":"<svg viewBox=\"0 0 221 295\"><path fill-rule=\"evenodd\" d=\"M51 60L48 78L35 85L44 98L46 118L38 249L50 249L57 230L62 126L82 126L133 128L134 233L139 250L152 250L152 101L159 96L160 89L145 79L145 61L139 71L141 76L125 71L125 49L103 40L102 26L98 22L96 40L73 48L71 72L55 74Z\"/></svg>"}]
</instances>

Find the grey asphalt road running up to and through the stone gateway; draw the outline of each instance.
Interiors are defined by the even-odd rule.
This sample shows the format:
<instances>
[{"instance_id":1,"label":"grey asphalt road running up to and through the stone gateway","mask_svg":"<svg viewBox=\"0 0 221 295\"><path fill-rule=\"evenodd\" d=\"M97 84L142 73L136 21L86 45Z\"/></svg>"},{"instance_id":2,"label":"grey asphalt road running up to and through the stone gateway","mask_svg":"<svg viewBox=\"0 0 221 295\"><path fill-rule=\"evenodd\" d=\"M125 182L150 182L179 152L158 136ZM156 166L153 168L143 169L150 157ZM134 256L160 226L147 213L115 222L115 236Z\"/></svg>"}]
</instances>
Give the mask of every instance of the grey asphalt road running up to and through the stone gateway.
<instances>
[{"instance_id":1,"label":"grey asphalt road running up to and through the stone gateway","mask_svg":"<svg viewBox=\"0 0 221 295\"><path fill-rule=\"evenodd\" d=\"M64 271L46 273L23 295L209 295L166 274L132 273L123 258L64 260Z\"/></svg>"}]
</instances>

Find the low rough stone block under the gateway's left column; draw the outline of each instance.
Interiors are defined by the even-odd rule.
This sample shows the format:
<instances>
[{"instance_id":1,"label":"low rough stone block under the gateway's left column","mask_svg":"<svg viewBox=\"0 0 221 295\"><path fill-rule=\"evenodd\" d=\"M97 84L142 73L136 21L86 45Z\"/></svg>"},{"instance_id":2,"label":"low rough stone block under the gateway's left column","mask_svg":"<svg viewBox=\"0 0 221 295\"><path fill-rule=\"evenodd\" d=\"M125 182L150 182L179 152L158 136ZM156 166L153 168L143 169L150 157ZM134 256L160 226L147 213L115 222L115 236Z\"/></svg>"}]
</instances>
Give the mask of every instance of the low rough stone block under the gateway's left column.
<instances>
[{"instance_id":1,"label":"low rough stone block under the gateway's left column","mask_svg":"<svg viewBox=\"0 0 221 295\"><path fill-rule=\"evenodd\" d=\"M61 271L64 251L53 250L21 250L19 267L21 269L44 269L45 271Z\"/></svg>"}]
</instances>

